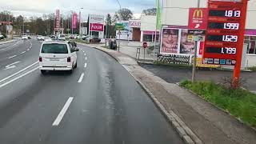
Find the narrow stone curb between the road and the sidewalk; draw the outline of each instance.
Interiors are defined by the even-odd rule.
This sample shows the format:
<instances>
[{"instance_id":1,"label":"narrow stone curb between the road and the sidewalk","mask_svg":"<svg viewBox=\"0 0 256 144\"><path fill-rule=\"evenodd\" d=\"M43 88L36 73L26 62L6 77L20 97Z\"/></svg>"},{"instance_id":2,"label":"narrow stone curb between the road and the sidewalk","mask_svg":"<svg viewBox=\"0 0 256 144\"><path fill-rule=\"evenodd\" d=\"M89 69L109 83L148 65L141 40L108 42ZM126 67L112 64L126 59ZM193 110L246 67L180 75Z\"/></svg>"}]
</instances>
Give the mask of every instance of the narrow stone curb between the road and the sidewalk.
<instances>
[{"instance_id":1,"label":"narrow stone curb between the road and the sidewalk","mask_svg":"<svg viewBox=\"0 0 256 144\"><path fill-rule=\"evenodd\" d=\"M81 43L79 43L81 44ZM86 45L86 44L82 44L84 46L90 46L90 45ZM96 50L101 50L95 46L90 46ZM105 51L105 50L101 50L102 52L109 54L112 58L114 58L116 61L118 61L119 63L121 63L118 58L116 58L113 54L110 54L109 52ZM122 65L123 66L123 65ZM126 67L123 66L125 69ZM127 69L126 69L127 70ZM151 100L154 102L154 105L158 107L158 109L162 112L162 114L166 117L166 119L168 120L168 122L170 122L170 124L174 127L174 129L177 131L177 133L179 134L179 136L182 138L182 140L186 143L186 144L202 144L203 142L198 138L198 136L196 134L194 134L194 132L192 130L190 130L190 128L188 126L186 126L186 124L182 121L181 118L178 117L177 114L174 113L173 110L169 110L170 112L168 112L166 110L166 108L162 105L161 102L158 101L158 99L154 96L154 94L152 94L150 92L150 90L148 88L146 88L146 86L143 84L143 82L141 82L140 80L138 80L138 78L136 78L134 76L134 74L132 74L130 72L130 70L127 70L129 72L129 74L135 79L136 82L138 82L139 86L142 87L143 90L146 91L146 94L148 94L151 98Z\"/></svg>"}]
</instances>

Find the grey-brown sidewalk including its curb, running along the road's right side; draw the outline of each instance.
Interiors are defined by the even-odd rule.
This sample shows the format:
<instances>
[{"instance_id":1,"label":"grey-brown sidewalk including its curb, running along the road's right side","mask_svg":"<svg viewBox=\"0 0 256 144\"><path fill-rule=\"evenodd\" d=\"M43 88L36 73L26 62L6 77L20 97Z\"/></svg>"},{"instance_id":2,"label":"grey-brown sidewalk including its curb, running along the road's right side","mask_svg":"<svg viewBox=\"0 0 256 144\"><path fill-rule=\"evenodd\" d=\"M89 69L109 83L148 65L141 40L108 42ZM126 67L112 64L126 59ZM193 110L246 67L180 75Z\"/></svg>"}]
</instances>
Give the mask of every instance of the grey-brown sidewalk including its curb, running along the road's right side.
<instances>
[{"instance_id":1,"label":"grey-brown sidewalk including its curb, running along the road's right side","mask_svg":"<svg viewBox=\"0 0 256 144\"><path fill-rule=\"evenodd\" d=\"M255 130L188 90L138 66L134 58L115 50L86 46L105 51L116 58L148 92L186 143L256 143Z\"/></svg>"}]
</instances>

